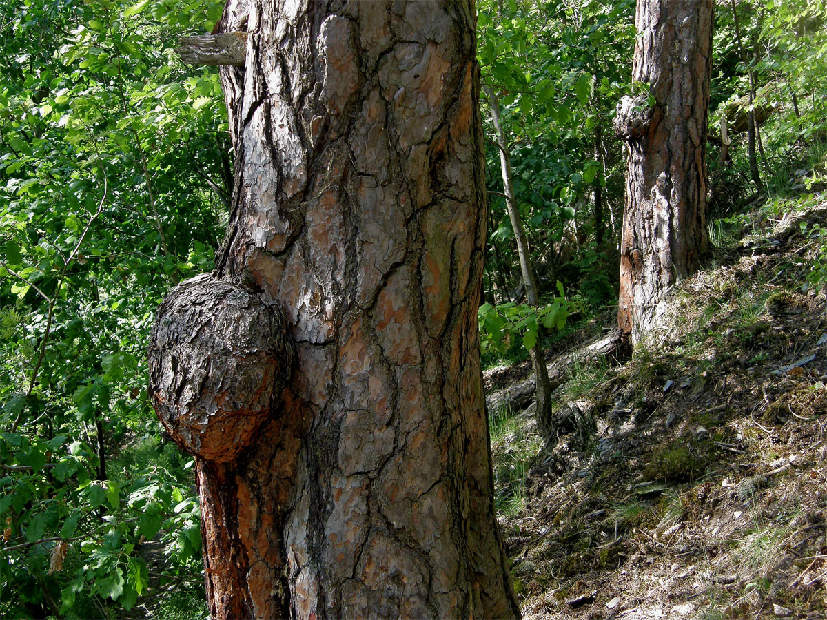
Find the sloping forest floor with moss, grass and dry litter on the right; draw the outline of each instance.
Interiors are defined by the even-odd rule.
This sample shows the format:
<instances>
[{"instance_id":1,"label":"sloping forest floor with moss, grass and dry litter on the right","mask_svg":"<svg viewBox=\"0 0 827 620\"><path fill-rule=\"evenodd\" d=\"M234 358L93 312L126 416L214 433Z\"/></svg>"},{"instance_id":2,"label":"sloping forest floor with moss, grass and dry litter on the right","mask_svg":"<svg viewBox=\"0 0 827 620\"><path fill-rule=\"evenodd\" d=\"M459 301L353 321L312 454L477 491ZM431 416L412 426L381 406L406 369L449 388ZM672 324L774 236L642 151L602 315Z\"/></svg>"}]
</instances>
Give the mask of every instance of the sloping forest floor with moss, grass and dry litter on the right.
<instances>
[{"instance_id":1,"label":"sloping forest floor with moss, grass and dry litter on the right","mask_svg":"<svg viewBox=\"0 0 827 620\"><path fill-rule=\"evenodd\" d=\"M554 446L531 408L491 413L526 618L827 617L825 227L827 193L713 227L631 360L566 365Z\"/></svg>"}]
</instances>

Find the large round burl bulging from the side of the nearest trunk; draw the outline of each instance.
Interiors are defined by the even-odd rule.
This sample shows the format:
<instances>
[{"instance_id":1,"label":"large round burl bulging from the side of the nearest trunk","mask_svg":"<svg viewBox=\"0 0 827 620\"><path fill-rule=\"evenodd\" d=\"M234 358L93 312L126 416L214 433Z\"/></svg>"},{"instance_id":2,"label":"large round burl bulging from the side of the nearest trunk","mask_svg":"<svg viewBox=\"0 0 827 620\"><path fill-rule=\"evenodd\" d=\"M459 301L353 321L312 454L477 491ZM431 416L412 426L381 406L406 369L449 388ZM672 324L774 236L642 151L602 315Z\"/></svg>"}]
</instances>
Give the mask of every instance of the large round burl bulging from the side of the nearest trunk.
<instances>
[{"instance_id":1,"label":"large round burl bulging from the side of the nearest trunk","mask_svg":"<svg viewBox=\"0 0 827 620\"><path fill-rule=\"evenodd\" d=\"M185 451L235 460L254 441L289 380L284 316L250 289L189 279L160 305L150 336L150 393L160 422Z\"/></svg>"}]
</instances>

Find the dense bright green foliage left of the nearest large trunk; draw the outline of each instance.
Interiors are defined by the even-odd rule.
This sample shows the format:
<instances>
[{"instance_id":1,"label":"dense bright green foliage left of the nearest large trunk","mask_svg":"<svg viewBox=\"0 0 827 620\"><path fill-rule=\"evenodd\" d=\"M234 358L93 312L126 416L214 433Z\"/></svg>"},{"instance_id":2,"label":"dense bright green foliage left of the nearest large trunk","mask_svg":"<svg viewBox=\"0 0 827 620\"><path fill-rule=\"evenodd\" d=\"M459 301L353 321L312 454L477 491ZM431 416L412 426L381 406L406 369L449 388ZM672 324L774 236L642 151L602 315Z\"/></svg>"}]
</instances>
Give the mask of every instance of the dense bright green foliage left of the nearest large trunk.
<instances>
[{"instance_id":1,"label":"dense bright green foliage left of the nearest large trunk","mask_svg":"<svg viewBox=\"0 0 827 620\"><path fill-rule=\"evenodd\" d=\"M0 8L3 617L122 616L146 599L146 541L168 583L199 580L191 472L160 443L145 351L160 299L210 269L226 218L218 76L171 50L221 8Z\"/></svg>"}]
</instances>

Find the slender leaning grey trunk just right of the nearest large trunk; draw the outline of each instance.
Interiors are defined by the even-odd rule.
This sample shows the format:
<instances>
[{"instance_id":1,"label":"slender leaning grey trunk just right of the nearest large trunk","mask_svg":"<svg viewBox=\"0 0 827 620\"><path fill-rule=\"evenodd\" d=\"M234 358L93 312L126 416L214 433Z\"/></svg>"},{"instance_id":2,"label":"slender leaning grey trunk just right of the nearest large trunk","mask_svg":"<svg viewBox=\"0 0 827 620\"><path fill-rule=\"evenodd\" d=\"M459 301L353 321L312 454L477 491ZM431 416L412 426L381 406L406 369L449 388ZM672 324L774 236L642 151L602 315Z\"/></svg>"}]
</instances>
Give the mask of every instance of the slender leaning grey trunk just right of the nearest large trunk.
<instances>
[{"instance_id":1,"label":"slender leaning grey trunk just right of the nearest large trunk","mask_svg":"<svg viewBox=\"0 0 827 620\"><path fill-rule=\"evenodd\" d=\"M540 300L537 294L537 279L531 265L531 254L528 251L528 239L523 228L523 220L519 215L517 197L514 195L514 183L511 174L511 156L509 155L508 144L505 141L505 131L500 122L500 99L490 88L485 88L485 96L488 98L488 105L491 111L491 123L496 133L496 143L500 150L500 171L503 175L503 189L506 196L505 204L509 210L511 227L514 229L514 240L517 241L517 255L519 256L520 273L523 274L523 286L525 287L526 303L537 308ZM550 438L554 433L552 423L552 387L548 382L548 370L546 358L543 354L541 338L538 337L534 346L528 351L531 358L531 365L534 370L534 377L537 382L537 424L538 429L544 438Z\"/></svg>"}]
</instances>

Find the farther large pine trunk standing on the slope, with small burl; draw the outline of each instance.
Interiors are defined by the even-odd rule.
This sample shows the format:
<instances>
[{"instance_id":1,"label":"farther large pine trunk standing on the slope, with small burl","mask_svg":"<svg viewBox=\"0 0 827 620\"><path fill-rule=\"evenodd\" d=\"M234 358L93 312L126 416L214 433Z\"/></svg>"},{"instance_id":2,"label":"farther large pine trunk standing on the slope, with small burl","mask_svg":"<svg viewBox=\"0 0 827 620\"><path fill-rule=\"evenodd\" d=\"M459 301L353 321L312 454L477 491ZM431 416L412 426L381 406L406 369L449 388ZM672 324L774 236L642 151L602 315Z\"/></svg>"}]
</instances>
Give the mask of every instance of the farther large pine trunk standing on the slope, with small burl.
<instances>
[{"instance_id":1,"label":"farther large pine trunk standing on the slope, with small burl","mask_svg":"<svg viewBox=\"0 0 827 620\"><path fill-rule=\"evenodd\" d=\"M712 0L638 0L633 82L614 127L627 145L618 321L635 343L706 250ZM650 98L653 98L653 103Z\"/></svg>"}]
</instances>

